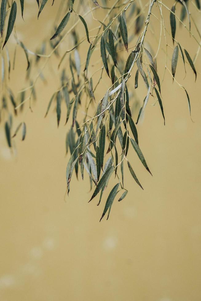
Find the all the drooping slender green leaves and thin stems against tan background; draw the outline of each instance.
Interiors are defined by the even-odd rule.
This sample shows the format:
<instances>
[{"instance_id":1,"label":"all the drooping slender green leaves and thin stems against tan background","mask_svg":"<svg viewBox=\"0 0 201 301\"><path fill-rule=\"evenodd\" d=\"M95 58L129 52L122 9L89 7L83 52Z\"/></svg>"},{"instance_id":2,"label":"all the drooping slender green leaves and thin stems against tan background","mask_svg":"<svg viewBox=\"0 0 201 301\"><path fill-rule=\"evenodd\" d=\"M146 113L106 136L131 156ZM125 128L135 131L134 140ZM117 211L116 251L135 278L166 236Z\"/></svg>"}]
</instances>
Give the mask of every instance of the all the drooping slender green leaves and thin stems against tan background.
<instances>
[{"instance_id":1,"label":"all the drooping slender green leaves and thin stems against tan background","mask_svg":"<svg viewBox=\"0 0 201 301\"><path fill-rule=\"evenodd\" d=\"M32 61L30 61L29 58L30 55L34 55L35 64L38 64L38 62L42 59L45 59L47 63L52 54L55 54L59 59L58 67L62 65L62 62L66 59L66 57L69 57L69 68L67 70L62 70L61 86L57 89L57 91L53 93L53 96L49 101L45 116L47 116L51 106L55 104L57 125L59 126L61 119L61 103L62 101L64 101L67 110L66 123L69 123L69 119L72 118L70 129L68 130L66 136L66 152L70 151L70 159L66 168L68 193L70 190L70 181L73 171L75 170L75 174L78 177L78 172L80 169L81 177L83 179L85 170L85 172L89 176L91 189L93 188L93 183L95 185L95 190L90 201L92 201L93 198L96 197L100 192L100 198L97 204L99 205L112 174L114 174L115 178L117 178L116 185L108 195L105 208L101 216L102 219L107 212L109 217L110 210L117 193L122 190L121 196L118 201L123 200L128 193L128 190L124 187L125 162L128 165L128 170L130 171L133 179L140 186L140 188L143 189L127 158L130 145L132 147L132 150L139 157L145 169L151 174L139 146L136 124L138 123L139 119L142 118L141 116L144 114L150 97L156 97L156 103L158 103L160 106L165 124L164 108L161 97L161 83L164 79L164 75L161 81L157 71L157 54L160 49L162 27L164 29L164 36L166 41L166 65L164 74L166 70L168 70L173 78L173 81L175 80L175 72L179 56L182 58L185 73L185 64L188 64L195 73L195 80L197 76L194 65L195 59L192 60L189 52L179 44L179 41L175 39L177 22L184 25L183 22L185 18L187 18L189 22L189 29L186 25L184 25L184 27L189 31L189 33L195 40L196 38L191 33L192 17L188 9L188 0L175 1L171 8L169 8L159 0L149 0L143 8L140 6L141 2L139 1L139 5L137 5L137 1L135 0L116 0L110 7L108 7L108 4L110 3L109 1L102 0L102 3L100 4L100 1L91 0L92 5L94 4L94 6L91 7L90 4L89 11L82 14L82 16L77 13L78 6L84 6L85 8L86 4L83 4L84 1L80 1L75 8L76 2L78 2L78 0L69 0L68 5L66 6L64 4L64 1L61 0L61 12L62 14L65 12L61 22L53 29L53 35L42 43L40 49L33 53L25 47L22 41L18 40L14 25L17 12L16 2L12 2L12 5L10 6L7 0L2 0L0 15L2 36L4 33L6 15L10 10L6 37L2 48L4 48L4 46L6 45L6 42L8 41L10 34L14 29L17 45L21 46L26 55L28 64L27 78L30 78L30 69L31 65L33 65ZM20 3L23 18L24 0L20 0ZM39 8L39 18L41 12L45 8L47 0L42 0L41 3L37 0L37 3ZM53 4L54 1L52 5ZM200 10L199 0L195 0L195 3L193 4L197 8L197 10ZM180 18L175 13L177 5L179 6L179 8L181 8ZM152 16L152 10L154 6L155 9L160 13L160 20L154 14ZM65 9L63 9L63 7L65 7ZM162 8L169 10L171 33L168 32L165 26ZM106 10L107 13L103 21L98 20L99 26L97 29L97 34L92 38L89 36L90 30L88 29L85 17L88 14L92 14L93 16L94 10ZM77 17L77 21L73 23L72 27L68 27L72 15ZM151 17L155 17L161 24L159 49L156 52L155 56L152 55L153 50L150 46L147 47L149 49L144 47L145 36ZM85 29L85 37L83 37L82 39L79 38L79 30L77 29L80 22L83 26L83 29ZM68 29L67 32L66 29ZM72 49L66 51L62 57L60 57L58 49L67 34L71 34L72 36L73 47ZM168 69L167 64L167 46L169 46L167 42L167 34L171 36L173 45L176 44L172 52L171 71ZM79 49L81 47L81 43L85 40L89 43L89 49L86 54L86 61L84 62L85 68L84 71L82 71L83 63L81 63ZM134 41L136 41L135 46L129 48L129 44ZM199 44L198 41L197 43ZM49 45L51 49L49 55L45 54L48 47L47 45ZM92 60L93 52L95 49L100 49L99 51L103 65L96 72L91 74L90 62ZM130 52L126 62L124 62L123 56L120 55L123 50ZM179 55L179 52L181 55ZM6 53L8 59L7 65L9 76L10 58L7 48ZM199 50L196 54L196 57L198 53ZM3 54L2 62L4 62ZM135 66L135 81L134 83L130 83L130 81L128 80L131 77L131 73ZM4 70L4 67L2 68L2 70ZM97 72L100 72L100 77L96 85L94 86L93 77ZM111 80L111 87L104 93L103 98L98 102L93 117L88 119L89 108L91 108L92 105L95 104L95 91L97 86L101 83L104 72L106 72L107 76ZM128 85L130 83L133 88L138 88L139 73L144 81L146 93L142 107L139 109L137 120L136 122L134 122L129 100L132 96L132 93L128 91ZM19 104L16 103L11 89L9 87L6 87L6 93L9 95L11 104L14 108L14 114L17 114L18 108L23 108L23 105L27 100L29 100L29 107L31 110L31 99L36 98L35 84L38 78L45 80L45 78L43 77L43 69L39 72L38 76L34 80L30 80L30 87L21 91L21 99ZM176 83L186 92L189 111L191 114L189 95L186 89L181 84L179 84L177 81ZM31 91L30 95L28 97L25 97L25 93L29 90ZM87 99L85 105L85 114L84 117L80 120L79 108L81 108L82 106L84 95ZM7 105L6 95L4 95L2 97L2 109L9 111L8 107L9 106ZM8 146L10 148L12 147L11 127L12 114L9 112L8 121L5 122L5 133ZM26 125L24 122L21 122L18 125L12 137L14 138L16 136L20 128L22 128L22 140L24 140L26 135ZM121 176L119 176L119 170Z\"/></svg>"}]
</instances>

